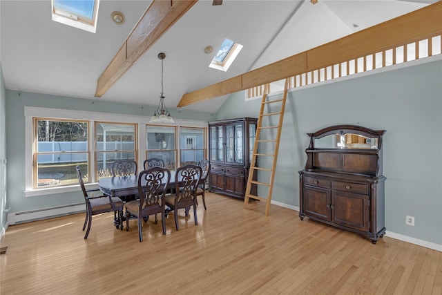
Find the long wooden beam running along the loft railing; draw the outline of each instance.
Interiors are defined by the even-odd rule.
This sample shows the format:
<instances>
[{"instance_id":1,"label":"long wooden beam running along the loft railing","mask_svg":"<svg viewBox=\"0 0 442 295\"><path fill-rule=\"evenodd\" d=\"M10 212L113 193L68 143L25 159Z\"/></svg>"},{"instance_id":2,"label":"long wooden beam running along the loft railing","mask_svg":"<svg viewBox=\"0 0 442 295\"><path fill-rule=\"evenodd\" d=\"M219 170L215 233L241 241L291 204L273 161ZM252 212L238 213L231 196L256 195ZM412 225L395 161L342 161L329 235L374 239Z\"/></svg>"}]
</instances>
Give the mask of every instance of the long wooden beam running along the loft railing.
<instances>
[{"instance_id":1,"label":"long wooden beam running along the loft railing","mask_svg":"<svg viewBox=\"0 0 442 295\"><path fill-rule=\"evenodd\" d=\"M183 95L178 107L244 91L442 35L442 1L352 35ZM431 54L430 54L431 55ZM429 56L430 56L429 55Z\"/></svg>"}]
</instances>

